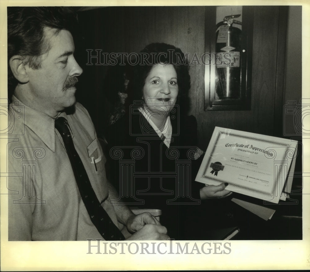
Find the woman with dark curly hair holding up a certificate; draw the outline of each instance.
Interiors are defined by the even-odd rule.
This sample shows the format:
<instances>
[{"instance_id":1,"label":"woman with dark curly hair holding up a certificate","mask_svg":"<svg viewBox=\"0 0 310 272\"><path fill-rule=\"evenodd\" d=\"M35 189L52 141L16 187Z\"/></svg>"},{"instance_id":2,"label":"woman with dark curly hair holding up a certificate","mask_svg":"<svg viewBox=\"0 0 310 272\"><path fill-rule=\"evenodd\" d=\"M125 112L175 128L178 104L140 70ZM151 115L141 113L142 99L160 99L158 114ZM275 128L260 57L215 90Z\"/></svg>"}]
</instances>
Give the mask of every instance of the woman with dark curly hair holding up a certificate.
<instances>
[{"instance_id":1,"label":"woman with dark curly hair holding up a certificate","mask_svg":"<svg viewBox=\"0 0 310 272\"><path fill-rule=\"evenodd\" d=\"M126 203L162 210L173 239L188 239L187 215L200 200L222 198L225 185L195 182L202 159L197 121L187 116L189 65L183 52L152 43L138 55L127 88L126 116L105 135L109 179ZM195 205L196 204L196 205Z\"/></svg>"}]
</instances>

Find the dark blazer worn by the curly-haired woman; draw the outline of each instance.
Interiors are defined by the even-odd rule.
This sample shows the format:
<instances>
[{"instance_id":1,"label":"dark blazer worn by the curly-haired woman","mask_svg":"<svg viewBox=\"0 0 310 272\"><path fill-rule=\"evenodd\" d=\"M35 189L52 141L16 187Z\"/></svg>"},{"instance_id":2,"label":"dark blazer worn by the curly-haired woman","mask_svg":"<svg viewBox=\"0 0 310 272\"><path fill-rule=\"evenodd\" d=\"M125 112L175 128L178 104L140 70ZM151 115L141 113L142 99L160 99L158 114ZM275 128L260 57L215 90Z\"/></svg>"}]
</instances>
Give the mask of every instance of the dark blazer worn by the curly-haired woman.
<instances>
[{"instance_id":1,"label":"dark blazer worn by the curly-haired woman","mask_svg":"<svg viewBox=\"0 0 310 272\"><path fill-rule=\"evenodd\" d=\"M161 209L161 223L174 239L186 239L186 211L200 204L195 181L202 157L195 159L197 121L170 114L172 141L163 143L139 111L132 110L105 135L108 179L133 207ZM184 222L185 221L185 222Z\"/></svg>"}]
</instances>

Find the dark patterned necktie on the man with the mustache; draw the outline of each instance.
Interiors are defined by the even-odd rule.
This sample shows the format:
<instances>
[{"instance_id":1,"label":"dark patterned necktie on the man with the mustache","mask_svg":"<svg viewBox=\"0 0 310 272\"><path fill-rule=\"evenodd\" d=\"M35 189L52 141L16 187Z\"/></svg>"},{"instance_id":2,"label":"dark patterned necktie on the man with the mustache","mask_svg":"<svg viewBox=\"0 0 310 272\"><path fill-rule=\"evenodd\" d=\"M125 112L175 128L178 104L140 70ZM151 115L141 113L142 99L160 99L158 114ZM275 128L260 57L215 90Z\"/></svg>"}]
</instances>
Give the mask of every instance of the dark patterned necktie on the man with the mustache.
<instances>
[{"instance_id":1,"label":"dark patterned necktie on the man with the mustache","mask_svg":"<svg viewBox=\"0 0 310 272\"><path fill-rule=\"evenodd\" d=\"M124 240L125 237L101 206L91 186L85 167L75 150L67 120L64 117L57 118L55 128L64 140L64 146L70 159L75 180L91 221L105 240Z\"/></svg>"}]
</instances>

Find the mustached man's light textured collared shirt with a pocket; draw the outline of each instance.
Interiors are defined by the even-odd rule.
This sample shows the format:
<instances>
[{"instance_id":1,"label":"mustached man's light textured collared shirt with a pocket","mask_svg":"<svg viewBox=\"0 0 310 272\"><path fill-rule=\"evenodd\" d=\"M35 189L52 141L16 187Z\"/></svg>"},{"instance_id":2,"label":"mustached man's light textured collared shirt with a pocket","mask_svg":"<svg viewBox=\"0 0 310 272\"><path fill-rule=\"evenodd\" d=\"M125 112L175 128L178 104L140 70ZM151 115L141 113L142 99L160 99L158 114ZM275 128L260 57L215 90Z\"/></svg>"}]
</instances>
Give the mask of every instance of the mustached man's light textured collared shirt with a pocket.
<instances>
[{"instance_id":1,"label":"mustached man's light textured collared shirt with a pocket","mask_svg":"<svg viewBox=\"0 0 310 272\"><path fill-rule=\"evenodd\" d=\"M80 196L55 120L13 96L14 129L8 139L9 240L103 239ZM102 206L117 223L108 197L105 157L86 109L76 103L67 119L74 146ZM95 162L95 163L94 163Z\"/></svg>"}]
</instances>

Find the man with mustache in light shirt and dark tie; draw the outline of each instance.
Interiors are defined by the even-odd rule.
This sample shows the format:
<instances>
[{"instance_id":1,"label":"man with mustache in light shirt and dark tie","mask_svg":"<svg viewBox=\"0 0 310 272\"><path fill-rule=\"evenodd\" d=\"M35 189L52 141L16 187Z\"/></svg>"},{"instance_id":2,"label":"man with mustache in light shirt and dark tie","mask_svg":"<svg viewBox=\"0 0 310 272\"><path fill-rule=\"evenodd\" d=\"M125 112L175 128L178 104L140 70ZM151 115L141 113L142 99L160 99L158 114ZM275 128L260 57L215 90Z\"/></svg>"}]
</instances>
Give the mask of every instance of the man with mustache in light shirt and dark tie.
<instances>
[{"instance_id":1,"label":"man with mustache in light shirt and dark tie","mask_svg":"<svg viewBox=\"0 0 310 272\"><path fill-rule=\"evenodd\" d=\"M8 8L8 86L14 90L8 238L168 239L149 213L135 216L110 202L117 195L106 180L104 154L88 112L75 100L82 69L73 56L74 17L64 7ZM121 234L122 225L131 236Z\"/></svg>"}]
</instances>

